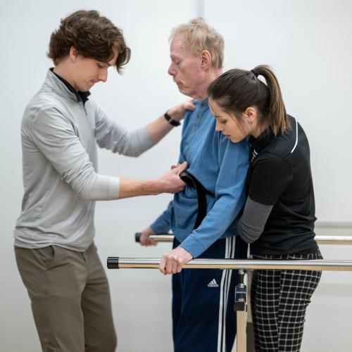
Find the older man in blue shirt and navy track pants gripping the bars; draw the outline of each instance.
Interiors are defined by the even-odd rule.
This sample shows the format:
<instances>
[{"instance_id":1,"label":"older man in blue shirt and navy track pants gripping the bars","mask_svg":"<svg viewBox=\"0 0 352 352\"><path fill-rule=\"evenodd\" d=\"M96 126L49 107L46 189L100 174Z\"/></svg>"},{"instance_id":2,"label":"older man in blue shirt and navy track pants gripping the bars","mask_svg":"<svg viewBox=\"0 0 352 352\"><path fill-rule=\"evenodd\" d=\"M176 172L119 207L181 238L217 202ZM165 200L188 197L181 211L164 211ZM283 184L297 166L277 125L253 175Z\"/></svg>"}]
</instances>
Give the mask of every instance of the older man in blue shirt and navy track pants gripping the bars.
<instances>
[{"instance_id":1,"label":"older man in blue shirt and navy track pants gripping the bars","mask_svg":"<svg viewBox=\"0 0 352 352\"><path fill-rule=\"evenodd\" d=\"M182 270L191 258L243 258L246 245L234 237L245 201L249 165L246 141L231 143L215 132L207 88L222 73L222 36L203 18L176 27L171 34L168 73L180 92L196 106L184 118L179 163L187 161L189 177L201 184L203 204L194 187L176 194L168 209L144 230L141 242L155 244L150 234L172 230L174 246L163 255L160 270L172 275L172 322L175 351L232 350L236 334L232 270ZM199 217L199 206L205 208Z\"/></svg>"}]
</instances>

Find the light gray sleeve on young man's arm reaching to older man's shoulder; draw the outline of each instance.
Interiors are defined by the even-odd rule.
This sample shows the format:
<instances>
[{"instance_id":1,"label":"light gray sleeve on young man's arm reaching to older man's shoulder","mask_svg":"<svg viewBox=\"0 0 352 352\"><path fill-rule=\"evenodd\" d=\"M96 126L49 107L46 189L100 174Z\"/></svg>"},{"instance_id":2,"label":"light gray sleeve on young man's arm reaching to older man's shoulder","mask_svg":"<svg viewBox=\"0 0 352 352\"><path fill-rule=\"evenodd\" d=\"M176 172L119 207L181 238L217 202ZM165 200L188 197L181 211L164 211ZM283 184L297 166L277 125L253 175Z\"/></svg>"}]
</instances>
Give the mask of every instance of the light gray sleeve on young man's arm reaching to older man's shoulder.
<instances>
[{"instance_id":1,"label":"light gray sleeve on young man's arm reaching to older man's shoulder","mask_svg":"<svg viewBox=\"0 0 352 352\"><path fill-rule=\"evenodd\" d=\"M146 132L146 127L134 131L125 130L109 119L100 108L96 108L95 113L95 136L101 148L125 156L139 156L155 144Z\"/></svg>"}]
</instances>

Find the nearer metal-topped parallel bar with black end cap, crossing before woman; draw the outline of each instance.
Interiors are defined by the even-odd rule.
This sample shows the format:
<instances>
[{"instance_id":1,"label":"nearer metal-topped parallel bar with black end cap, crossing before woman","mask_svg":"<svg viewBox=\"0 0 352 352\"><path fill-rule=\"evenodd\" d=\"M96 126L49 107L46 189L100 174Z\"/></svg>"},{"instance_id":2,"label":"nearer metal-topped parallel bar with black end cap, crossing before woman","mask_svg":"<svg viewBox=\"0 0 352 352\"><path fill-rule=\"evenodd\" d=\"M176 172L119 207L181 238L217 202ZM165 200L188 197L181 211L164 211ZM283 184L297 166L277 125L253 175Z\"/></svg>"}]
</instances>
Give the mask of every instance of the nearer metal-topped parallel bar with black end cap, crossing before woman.
<instances>
[{"instance_id":1,"label":"nearer metal-topped parallel bar with black end cap, crossing before woman","mask_svg":"<svg viewBox=\"0 0 352 352\"><path fill-rule=\"evenodd\" d=\"M160 260L161 258L108 257L108 269L157 269ZM184 269L352 271L352 260L194 259L185 264Z\"/></svg>"}]
</instances>

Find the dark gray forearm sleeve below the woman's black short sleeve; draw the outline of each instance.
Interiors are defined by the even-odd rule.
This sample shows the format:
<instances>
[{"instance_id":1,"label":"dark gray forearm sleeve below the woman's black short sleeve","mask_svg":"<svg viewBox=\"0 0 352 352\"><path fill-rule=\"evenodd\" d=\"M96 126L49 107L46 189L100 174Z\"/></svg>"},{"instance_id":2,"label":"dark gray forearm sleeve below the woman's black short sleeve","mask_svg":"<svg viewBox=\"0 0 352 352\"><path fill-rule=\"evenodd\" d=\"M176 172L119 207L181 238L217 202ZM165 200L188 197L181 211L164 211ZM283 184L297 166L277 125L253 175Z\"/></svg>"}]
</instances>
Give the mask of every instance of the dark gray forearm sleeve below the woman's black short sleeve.
<instances>
[{"instance_id":1,"label":"dark gray forearm sleeve below the woman's black short sleeve","mask_svg":"<svg viewBox=\"0 0 352 352\"><path fill-rule=\"evenodd\" d=\"M237 222L239 236L247 242L252 243L260 237L269 218L272 206L261 204L247 198L244 213Z\"/></svg>"}]
</instances>

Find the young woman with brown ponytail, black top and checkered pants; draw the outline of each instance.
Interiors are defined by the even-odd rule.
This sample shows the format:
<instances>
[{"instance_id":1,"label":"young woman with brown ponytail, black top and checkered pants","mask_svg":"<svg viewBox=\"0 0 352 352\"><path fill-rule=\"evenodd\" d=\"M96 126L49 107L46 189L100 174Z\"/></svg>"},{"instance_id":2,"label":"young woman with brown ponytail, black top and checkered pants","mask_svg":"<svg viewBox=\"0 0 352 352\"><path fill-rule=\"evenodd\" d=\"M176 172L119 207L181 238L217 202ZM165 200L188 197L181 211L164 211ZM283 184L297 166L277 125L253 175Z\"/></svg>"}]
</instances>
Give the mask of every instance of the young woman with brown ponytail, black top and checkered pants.
<instances>
[{"instance_id":1,"label":"young woman with brown ponytail, black top and checkered pants","mask_svg":"<svg viewBox=\"0 0 352 352\"><path fill-rule=\"evenodd\" d=\"M265 83L258 79L261 76ZM287 115L272 70L229 70L208 88L216 130L237 143L249 136L248 198L237 229L256 259L322 259L306 134ZM300 351L310 297L321 272L255 270L251 305L256 352Z\"/></svg>"}]
</instances>

